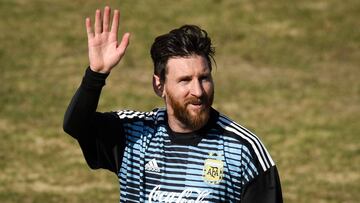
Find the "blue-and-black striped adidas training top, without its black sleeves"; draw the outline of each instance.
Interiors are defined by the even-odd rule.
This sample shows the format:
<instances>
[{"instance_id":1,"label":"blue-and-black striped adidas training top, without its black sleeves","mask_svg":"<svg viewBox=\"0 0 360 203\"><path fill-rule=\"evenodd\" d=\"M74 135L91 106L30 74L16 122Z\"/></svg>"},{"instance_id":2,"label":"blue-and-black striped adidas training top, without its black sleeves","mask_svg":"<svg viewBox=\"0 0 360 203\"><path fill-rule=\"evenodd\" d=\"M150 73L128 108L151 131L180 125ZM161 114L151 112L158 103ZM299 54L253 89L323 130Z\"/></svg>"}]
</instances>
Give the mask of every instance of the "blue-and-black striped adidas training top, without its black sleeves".
<instances>
[{"instance_id":1,"label":"blue-and-black striped adidas training top, without its black sleeves","mask_svg":"<svg viewBox=\"0 0 360 203\"><path fill-rule=\"evenodd\" d=\"M215 110L203 129L183 135L171 131L164 109L116 113L126 140L120 202L236 202L274 166L253 133Z\"/></svg>"}]
</instances>

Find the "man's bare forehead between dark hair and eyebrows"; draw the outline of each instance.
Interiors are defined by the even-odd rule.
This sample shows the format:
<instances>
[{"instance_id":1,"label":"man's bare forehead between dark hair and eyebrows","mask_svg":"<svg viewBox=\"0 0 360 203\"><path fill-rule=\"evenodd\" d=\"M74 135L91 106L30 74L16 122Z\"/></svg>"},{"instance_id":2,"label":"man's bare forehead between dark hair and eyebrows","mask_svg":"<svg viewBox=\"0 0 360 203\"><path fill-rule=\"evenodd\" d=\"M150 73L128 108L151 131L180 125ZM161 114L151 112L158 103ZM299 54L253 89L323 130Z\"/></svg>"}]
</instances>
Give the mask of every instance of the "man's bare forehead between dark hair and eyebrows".
<instances>
[{"instance_id":1,"label":"man's bare forehead between dark hair and eyebrows","mask_svg":"<svg viewBox=\"0 0 360 203\"><path fill-rule=\"evenodd\" d=\"M167 62L167 76L209 74L210 68L203 56L173 57Z\"/></svg>"}]
</instances>

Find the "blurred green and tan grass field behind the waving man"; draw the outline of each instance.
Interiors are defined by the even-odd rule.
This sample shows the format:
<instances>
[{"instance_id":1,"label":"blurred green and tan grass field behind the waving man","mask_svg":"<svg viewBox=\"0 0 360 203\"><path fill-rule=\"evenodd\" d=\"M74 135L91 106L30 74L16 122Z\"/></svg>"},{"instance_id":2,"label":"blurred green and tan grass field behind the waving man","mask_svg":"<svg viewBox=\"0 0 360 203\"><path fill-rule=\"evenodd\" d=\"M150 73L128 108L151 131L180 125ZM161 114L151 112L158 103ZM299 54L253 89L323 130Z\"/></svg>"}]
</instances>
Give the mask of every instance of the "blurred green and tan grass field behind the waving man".
<instances>
[{"instance_id":1,"label":"blurred green and tan grass field behind the waving man","mask_svg":"<svg viewBox=\"0 0 360 203\"><path fill-rule=\"evenodd\" d=\"M100 110L150 110L155 36L197 24L217 51L214 106L263 140L285 202L360 201L360 1L1 0L0 202L117 202L62 131L87 62L84 19L110 5L132 33Z\"/></svg>"}]
</instances>

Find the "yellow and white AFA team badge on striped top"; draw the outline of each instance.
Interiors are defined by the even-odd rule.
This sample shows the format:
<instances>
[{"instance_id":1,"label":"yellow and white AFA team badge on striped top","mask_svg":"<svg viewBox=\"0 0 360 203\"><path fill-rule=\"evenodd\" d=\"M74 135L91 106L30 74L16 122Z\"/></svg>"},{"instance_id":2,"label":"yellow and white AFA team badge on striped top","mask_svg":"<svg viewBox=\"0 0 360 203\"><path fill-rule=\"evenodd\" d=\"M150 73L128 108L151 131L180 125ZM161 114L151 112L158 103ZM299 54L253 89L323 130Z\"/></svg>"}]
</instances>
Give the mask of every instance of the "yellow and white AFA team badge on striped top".
<instances>
[{"instance_id":1,"label":"yellow and white AFA team badge on striped top","mask_svg":"<svg viewBox=\"0 0 360 203\"><path fill-rule=\"evenodd\" d=\"M210 154L210 158L204 162L203 178L210 184L219 184L224 175L224 163L216 158Z\"/></svg>"}]
</instances>

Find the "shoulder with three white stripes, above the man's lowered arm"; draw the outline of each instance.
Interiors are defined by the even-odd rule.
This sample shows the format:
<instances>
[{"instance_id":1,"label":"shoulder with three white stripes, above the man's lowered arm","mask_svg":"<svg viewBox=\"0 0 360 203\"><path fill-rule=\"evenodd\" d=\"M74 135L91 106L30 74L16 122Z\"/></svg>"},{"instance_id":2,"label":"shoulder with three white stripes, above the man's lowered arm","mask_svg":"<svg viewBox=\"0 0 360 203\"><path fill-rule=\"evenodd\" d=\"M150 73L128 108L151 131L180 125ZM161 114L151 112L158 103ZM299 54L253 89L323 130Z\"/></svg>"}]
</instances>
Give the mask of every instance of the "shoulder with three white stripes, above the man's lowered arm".
<instances>
[{"instance_id":1,"label":"shoulder with three white stripes, above the man's lowered arm","mask_svg":"<svg viewBox=\"0 0 360 203\"><path fill-rule=\"evenodd\" d=\"M216 125L223 131L224 139L238 143L242 149L247 149L253 159L258 160L262 171L265 172L275 165L268 150L253 132L220 113L216 118Z\"/></svg>"}]
</instances>

